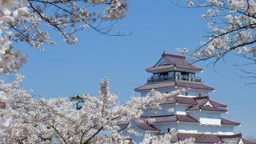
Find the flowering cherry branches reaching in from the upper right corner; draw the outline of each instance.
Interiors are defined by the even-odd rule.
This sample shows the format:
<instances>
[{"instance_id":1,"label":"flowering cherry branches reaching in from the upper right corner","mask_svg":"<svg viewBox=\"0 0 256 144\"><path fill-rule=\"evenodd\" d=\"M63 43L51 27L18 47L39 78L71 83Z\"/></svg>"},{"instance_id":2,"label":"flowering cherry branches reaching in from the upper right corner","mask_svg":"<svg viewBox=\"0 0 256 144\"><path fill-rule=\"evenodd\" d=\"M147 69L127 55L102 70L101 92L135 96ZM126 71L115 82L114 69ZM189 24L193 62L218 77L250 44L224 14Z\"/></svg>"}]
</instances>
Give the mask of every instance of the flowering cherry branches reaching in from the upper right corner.
<instances>
[{"instance_id":1,"label":"flowering cherry branches reaching in from the upper right corner","mask_svg":"<svg viewBox=\"0 0 256 144\"><path fill-rule=\"evenodd\" d=\"M256 60L256 2L254 0L189 0L190 6L206 8L206 19L210 33L201 46L194 50L196 60L215 58L217 61L226 54L234 54Z\"/></svg>"}]
</instances>

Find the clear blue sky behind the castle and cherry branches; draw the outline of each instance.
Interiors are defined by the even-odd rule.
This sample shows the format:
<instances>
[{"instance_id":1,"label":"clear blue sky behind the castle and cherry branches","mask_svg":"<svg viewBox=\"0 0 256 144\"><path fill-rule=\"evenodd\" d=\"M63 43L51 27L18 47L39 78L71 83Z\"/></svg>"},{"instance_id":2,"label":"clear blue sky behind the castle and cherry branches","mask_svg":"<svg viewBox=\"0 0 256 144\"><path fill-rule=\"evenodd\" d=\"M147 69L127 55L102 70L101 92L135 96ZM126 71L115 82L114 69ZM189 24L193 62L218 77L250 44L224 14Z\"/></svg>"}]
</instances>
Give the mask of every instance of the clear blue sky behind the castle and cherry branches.
<instances>
[{"instance_id":1,"label":"clear blue sky behind the castle and cherry branches","mask_svg":"<svg viewBox=\"0 0 256 144\"><path fill-rule=\"evenodd\" d=\"M112 33L133 32L130 36L110 37L86 30L78 33L77 45L67 46L61 38L55 38L58 44L46 46L45 52L16 44L27 55L21 70L26 77L23 86L46 98L97 94L98 82L107 77L111 92L118 94L123 103L133 95L134 87L146 83L150 76L144 72L146 67L153 66L163 50L178 54L177 47L198 46L207 30L206 22L200 18L204 10L180 8L169 0L129 3L126 18L114 26ZM204 69L199 74L202 82L216 90L210 98L228 104L229 114L223 117L242 122L236 131L255 138L256 85L246 86L237 75L240 67L233 66L243 61L230 55L215 70L214 66L207 66L209 62L198 62L196 66ZM255 71L255 67L249 69Z\"/></svg>"}]
</instances>

